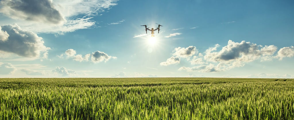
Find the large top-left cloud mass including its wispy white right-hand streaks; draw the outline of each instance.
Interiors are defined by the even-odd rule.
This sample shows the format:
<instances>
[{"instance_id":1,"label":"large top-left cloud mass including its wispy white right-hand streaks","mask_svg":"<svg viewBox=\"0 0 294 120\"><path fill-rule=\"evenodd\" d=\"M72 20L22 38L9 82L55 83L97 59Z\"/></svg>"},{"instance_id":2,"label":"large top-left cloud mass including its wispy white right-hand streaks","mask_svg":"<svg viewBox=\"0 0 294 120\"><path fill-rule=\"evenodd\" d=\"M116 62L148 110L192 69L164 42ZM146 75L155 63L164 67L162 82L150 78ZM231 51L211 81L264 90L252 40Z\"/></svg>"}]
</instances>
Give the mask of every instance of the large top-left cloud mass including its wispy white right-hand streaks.
<instances>
[{"instance_id":1,"label":"large top-left cloud mass including its wispy white right-hand streaks","mask_svg":"<svg viewBox=\"0 0 294 120\"><path fill-rule=\"evenodd\" d=\"M64 32L94 26L96 21L91 20L92 16L117 5L116 1L118 0L2 0L0 12L16 19L26 31L56 33L58 36Z\"/></svg>"}]
</instances>

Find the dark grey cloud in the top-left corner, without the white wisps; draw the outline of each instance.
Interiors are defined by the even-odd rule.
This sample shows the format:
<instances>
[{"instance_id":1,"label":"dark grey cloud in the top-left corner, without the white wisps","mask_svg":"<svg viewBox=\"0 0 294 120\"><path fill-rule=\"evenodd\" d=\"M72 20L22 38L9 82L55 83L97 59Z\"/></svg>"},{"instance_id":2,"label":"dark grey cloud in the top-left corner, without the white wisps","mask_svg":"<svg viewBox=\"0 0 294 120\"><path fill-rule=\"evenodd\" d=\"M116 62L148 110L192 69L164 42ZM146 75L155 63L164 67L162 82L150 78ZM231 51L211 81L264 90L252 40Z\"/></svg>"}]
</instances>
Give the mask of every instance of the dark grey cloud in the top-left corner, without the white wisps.
<instances>
[{"instance_id":1,"label":"dark grey cloud in the top-left corner, without the white wisps","mask_svg":"<svg viewBox=\"0 0 294 120\"><path fill-rule=\"evenodd\" d=\"M2 0L0 12L12 19L62 24L64 17L51 0Z\"/></svg>"}]
</instances>

